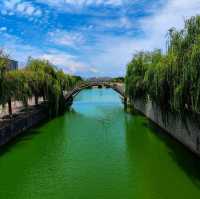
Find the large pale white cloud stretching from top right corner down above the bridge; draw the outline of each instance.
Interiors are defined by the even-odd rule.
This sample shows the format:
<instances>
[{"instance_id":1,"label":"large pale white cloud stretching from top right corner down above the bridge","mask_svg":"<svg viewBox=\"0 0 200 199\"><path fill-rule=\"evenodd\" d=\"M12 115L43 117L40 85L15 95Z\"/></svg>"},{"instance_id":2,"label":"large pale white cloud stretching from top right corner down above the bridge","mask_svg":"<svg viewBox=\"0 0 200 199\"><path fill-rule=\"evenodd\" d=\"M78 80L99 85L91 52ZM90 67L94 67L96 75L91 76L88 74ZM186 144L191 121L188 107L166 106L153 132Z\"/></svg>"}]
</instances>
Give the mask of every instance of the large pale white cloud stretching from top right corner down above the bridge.
<instances>
[{"instance_id":1,"label":"large pale white cloud stretching from top right corner down above the bridge","mask_svg":"<svg viewBox=\"0 0 200 199\"><path fill-rule=\"evenodd\" d=\"M138 22L142 36L99 35L95 46L88 49L93 53L89 61L96 63L104 74L124 74L134 53L155 48L165 50L168 30L183 28L184 19L197 14L200 14L200 0L169 0L162 9ZM95 54L94 49L98 50Z\"/></svg>"}]
</instances>

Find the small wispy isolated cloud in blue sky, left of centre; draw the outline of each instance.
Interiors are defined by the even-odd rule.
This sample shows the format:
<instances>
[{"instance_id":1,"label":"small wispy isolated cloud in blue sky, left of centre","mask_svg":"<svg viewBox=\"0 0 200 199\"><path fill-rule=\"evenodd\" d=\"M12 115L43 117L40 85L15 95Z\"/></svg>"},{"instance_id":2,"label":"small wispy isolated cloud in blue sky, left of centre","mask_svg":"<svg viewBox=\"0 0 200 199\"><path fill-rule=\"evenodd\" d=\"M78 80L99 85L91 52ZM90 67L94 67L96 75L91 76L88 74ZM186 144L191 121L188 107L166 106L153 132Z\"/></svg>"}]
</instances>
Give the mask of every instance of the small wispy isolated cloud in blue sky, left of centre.
<instances>
[{"instance_id":1,"label":"small wispy isolated cloud in blue sky, left of centre","mask_svg":"<svg viewBox=\"0 0 200 199\"><path fill-rule=\"evenodd\" d=\"M81 33L68 32L59 29L55 30L54 32L49 32L47 39L56 45L73 48L76 48L84 43L84 37Z\"/></svg>"}]
</instances>

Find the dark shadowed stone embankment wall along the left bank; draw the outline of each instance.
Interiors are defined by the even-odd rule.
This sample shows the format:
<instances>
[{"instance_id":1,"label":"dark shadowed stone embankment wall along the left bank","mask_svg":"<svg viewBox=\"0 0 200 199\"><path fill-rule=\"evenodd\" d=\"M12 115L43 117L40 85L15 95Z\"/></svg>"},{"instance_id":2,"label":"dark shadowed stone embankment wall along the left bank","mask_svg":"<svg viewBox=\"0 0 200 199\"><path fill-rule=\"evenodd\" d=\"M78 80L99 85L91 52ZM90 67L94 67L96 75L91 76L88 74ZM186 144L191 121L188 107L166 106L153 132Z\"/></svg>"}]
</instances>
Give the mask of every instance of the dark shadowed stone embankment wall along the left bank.
<instances>
[{"instance_id":1,"label":"dark shadowed stone embankment wall along the left bank","mask_svg":"<svg viewBox=\"0 0 200 199\"><path fill-rule=\"evenodd\" d=\"M0 122L0 146L7 144L24 131L48 119L48 111L42 105L34 107L27 113L18 114L15 118Z\"/></svg>"}]
</instances>

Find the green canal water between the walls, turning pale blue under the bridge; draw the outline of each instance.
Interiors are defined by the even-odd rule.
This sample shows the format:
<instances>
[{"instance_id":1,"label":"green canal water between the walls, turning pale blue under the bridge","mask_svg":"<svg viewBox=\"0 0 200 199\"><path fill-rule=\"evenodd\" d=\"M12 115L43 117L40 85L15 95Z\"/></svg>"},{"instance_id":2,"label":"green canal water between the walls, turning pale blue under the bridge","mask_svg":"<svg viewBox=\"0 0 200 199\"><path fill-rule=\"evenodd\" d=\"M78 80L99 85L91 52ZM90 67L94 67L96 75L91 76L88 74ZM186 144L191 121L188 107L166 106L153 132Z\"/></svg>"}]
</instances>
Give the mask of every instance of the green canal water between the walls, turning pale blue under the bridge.
<instances>
[{"instance_id":1,"label":"green canal water between the walls, turning pale blue under the bridge","mask_svg":"<svg viewBox=\"0 0 200 199\"><path fill-rule=\"evenodd\" d=\"M0 199L198 199L200 162L111 89L1 151Z\"/></svg>"}]
</instances>

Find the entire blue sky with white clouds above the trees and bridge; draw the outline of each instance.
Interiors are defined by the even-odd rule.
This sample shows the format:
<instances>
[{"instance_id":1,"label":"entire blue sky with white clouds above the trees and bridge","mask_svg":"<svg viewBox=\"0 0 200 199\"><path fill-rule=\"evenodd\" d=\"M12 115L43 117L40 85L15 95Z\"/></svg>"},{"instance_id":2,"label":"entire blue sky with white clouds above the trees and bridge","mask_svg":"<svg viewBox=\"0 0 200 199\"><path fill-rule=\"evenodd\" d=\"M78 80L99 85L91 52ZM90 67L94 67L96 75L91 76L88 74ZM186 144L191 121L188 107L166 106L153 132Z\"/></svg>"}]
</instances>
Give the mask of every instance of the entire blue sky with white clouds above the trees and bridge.
<instances>
[{"instance_id":1,"label":"entire blue sky with white clouds above the trees and bridge","mask_svg":"<svg viewBox=\"0 0 200 199\"><path fill-rule=\"evenodd\" d=\"M0 0L0 49L66 73L122 76L140 50L166 48L167 31L200 14L200 0Z\"/></svg>"}]
</instances>

